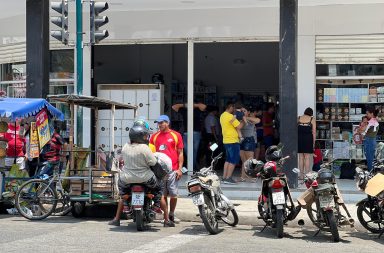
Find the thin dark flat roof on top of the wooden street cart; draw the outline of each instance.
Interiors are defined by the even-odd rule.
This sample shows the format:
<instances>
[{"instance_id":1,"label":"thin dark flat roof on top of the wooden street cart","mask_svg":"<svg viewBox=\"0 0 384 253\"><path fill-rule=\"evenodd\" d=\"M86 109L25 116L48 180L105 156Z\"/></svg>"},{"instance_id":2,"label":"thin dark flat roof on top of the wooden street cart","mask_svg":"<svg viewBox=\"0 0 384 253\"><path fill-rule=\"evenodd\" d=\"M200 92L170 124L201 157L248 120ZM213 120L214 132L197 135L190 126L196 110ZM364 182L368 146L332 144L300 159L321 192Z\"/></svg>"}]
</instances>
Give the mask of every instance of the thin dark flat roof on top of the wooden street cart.
<instances>
[{"instance_id":1,"label":"thin dark flat roof on top of the wooden street cart","mask_svg":"<svg viewBox=\"0 0 384 253\"><path fill-rule=\"evenodd\" d=\"M98 110L111 110L112 106L115 106L116 110L119 109L132 109L137 110L137 106L115 102L105 98L93 97L93 96L80 96L80 95L50 95L48 99L52 102L73 103L78 106L98 109Z\"/></svg>"}]
</instances>

